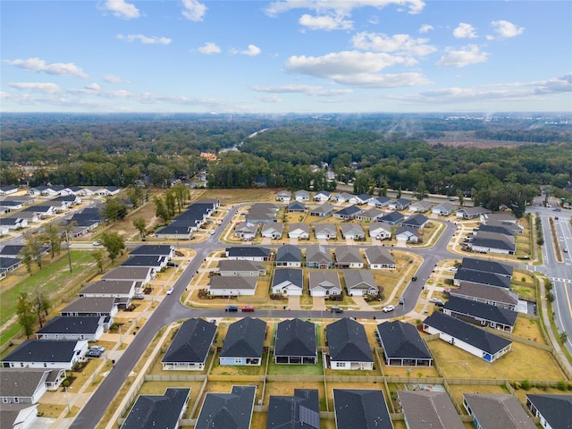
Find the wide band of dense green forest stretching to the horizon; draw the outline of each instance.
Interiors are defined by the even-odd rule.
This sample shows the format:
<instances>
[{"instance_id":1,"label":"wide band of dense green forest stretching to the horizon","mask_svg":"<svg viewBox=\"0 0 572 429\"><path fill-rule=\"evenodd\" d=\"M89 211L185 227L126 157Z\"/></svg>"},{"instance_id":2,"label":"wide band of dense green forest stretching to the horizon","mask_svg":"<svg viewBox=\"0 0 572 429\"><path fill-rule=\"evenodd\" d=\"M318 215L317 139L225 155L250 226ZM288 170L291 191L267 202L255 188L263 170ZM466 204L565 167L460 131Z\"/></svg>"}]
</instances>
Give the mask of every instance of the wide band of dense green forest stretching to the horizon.
<instances>
[{"instance_id":1,"label":"wide band of dense green forest stretching to the horizon","mask_svg":"<svg viewBox=\"0 0 572 429\"><path fill-rule=\"evenodd\" d=\"M557 115L4 114L0 120L2 184L165 186L207 167L213 188L335 189L341 181L356 192L439 193L495 208L510 194L530 198L545 185L567 196L563 189L572 180L572 121ZM451 133L475 144L448 146ZM484 148L479 140L498 144ZM207 165L201 152L218 160Z\"/></svg>"}]
</instances>

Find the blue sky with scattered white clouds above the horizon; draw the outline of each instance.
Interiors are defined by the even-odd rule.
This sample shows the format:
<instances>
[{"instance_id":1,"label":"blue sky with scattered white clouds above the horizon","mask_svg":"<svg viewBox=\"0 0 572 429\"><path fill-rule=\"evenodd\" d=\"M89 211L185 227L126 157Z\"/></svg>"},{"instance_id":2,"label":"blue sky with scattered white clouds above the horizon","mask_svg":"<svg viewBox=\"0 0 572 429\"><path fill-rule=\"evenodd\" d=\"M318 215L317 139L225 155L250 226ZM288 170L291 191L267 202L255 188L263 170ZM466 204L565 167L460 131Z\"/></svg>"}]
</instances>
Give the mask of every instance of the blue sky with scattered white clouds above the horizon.
<instances>
[{"instance_id":1,"label":"blue sky with scattered white clouds above the horizon","mask_svg":"<svg viewBox=\"0 0 572 429\"><path fill-rule=\"evenodd\" d=\"M572 111L572 2L0 2L2 112Z\"/></svg>"}]
</instances>

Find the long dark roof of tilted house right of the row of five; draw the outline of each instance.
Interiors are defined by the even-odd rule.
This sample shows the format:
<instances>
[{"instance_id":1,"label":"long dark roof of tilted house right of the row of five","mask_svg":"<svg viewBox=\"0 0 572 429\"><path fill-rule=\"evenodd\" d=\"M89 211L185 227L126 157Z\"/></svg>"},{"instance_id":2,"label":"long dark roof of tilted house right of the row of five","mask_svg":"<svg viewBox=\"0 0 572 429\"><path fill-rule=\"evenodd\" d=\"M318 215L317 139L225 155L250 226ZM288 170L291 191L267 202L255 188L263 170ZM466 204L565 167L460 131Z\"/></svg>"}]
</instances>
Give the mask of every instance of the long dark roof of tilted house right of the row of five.
<instances>
[{"instance_id":1,"label":"long dark roof of tilted house right of the row of five","mask_svg":"<svg viewBox=\"0 0 572 429\"><path fill-rule=\"evenodd\" d=\"M491 355L498 353L512 343L512 341L477 328L473 324L467 324L467 322L456 319L451 315L445 315L441 311L433 312L433 315L427 317L423 323Z\"/></svg>"}]
</instances>

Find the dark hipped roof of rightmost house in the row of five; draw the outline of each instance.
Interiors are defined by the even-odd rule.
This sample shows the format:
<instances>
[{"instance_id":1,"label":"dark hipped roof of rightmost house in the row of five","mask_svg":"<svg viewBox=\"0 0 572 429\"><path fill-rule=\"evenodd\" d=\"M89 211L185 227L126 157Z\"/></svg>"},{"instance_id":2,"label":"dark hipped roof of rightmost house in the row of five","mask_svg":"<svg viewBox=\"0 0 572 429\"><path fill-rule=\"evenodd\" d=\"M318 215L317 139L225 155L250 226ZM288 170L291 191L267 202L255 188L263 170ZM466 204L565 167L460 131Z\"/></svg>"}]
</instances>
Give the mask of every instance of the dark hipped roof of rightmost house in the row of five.
<instances>
[{"instance_id":1,"label":"dark hipped roof of rightmost house in the row of five","mask_svg":"<svg viewBox=\"0 0 572 429\"><path fill-rule=\"evenodd\" d=\"M399 320L377 325L383 353L390 358L432 359L416 327Z\"/></svg>"}]
</instances>

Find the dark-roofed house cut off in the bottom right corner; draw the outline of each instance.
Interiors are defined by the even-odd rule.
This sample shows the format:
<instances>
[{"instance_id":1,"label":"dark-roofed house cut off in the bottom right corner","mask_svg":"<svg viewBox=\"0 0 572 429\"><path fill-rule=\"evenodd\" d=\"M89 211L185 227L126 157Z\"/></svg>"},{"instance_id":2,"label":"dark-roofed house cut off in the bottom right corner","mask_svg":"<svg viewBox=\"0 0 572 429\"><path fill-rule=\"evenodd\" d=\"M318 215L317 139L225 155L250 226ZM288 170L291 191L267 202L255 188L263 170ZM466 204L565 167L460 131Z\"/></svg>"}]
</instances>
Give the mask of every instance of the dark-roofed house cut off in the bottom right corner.
<instances>
[{"instance_id":1,"label":"dark-roofed house cut off in the bottom right corner","mask_svg":"<svg viewBox=\"0 0 572 429\"><path fill-rule=\"evenodd\" d=\"M526 408L545 429L572 427L572 395L526 394Z\"/></svg>"}]
</instances>

